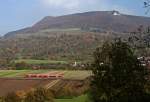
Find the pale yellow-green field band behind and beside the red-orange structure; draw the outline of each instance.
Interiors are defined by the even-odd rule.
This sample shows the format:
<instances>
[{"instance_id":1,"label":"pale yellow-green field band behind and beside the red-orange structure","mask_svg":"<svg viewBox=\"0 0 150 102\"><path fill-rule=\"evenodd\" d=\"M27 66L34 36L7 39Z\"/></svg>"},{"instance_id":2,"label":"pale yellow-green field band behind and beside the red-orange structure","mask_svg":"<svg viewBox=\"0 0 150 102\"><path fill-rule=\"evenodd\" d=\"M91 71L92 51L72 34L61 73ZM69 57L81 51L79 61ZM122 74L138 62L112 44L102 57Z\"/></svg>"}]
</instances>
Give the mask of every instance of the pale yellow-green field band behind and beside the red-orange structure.
<instances>
[{"instance_id":1,"label":"pale yellow-green field band behind and beside the red-orange structure","mask_svg":"<svg viewBox=\"0 0 150 102\"><path fill-rule=\"evenodd\" d=\"M91 71L68 71L68 70L0 70L0 78L21 78L26 74L37 74L47 72L63 72L64 79L85 79L91 75Z\"/></svg>"}]
</instances>

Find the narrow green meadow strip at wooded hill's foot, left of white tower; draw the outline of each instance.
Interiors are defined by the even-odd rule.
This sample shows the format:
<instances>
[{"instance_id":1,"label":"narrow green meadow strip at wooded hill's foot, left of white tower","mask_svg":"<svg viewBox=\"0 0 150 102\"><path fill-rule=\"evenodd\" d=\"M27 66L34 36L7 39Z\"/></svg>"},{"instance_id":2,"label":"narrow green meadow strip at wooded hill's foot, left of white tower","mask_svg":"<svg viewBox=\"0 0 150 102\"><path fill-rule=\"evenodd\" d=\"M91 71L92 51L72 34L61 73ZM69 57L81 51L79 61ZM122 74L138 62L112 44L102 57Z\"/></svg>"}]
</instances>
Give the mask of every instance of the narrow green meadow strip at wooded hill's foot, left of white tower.
<instances>
[{"instance_id":1,"label":"narrow green meadow strip at wooded hill's foot, left of white tower","mask_svg":"<svg viewBox=\"0 0 150 102\"><path fill-rule=\"evenodd\" d=\"M33 59L20 59L15 63L25 62L27 64L68 64L67 61L53 61L53 60L33 60Z\"/></svg>"}]
</instances>

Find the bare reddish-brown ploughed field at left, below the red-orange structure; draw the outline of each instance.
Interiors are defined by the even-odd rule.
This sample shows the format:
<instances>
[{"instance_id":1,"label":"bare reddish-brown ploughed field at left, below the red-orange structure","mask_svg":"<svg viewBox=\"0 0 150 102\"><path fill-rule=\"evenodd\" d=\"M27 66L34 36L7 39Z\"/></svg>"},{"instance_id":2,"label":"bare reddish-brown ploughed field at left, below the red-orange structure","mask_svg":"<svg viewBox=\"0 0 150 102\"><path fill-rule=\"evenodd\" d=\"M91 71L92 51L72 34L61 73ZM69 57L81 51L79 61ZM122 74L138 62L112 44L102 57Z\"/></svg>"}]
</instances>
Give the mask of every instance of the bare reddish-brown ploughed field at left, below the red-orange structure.
<instances>
[{"instance_id":1,"label":"bare reddish-brown ploughed field at left, below the red-orange structure","mask_svg":"<svg viewBox=\"0 0 150 102\"><path fill-rule=\"evenodd\" d=\"M43 87L52 80L19 80L19 79L0 79L0 96L9 92L29 91L32 88Z\"/></svg>"}]
</instances>

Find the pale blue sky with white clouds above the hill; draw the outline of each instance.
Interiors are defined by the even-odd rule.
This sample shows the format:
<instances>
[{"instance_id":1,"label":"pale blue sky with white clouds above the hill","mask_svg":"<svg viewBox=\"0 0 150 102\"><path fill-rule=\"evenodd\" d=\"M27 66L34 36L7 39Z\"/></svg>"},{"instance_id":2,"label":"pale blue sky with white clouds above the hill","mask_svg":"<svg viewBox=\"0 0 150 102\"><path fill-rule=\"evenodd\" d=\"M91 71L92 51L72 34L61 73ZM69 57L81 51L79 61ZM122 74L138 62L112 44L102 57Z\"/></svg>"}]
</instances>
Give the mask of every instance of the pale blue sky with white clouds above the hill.
<instances>
[{"instance_id":1,"label":"pale blue sky with white clouds above the hill","mask_svg":"<svg viewBox=\"0 0 150 102\"><path fill-rule=\"evenodd\" d=\"M124 14L148 16L146 0L0 0L0 35L32 26L45 16L88 11L117 10Z\"/></svg>"}]
</instances>

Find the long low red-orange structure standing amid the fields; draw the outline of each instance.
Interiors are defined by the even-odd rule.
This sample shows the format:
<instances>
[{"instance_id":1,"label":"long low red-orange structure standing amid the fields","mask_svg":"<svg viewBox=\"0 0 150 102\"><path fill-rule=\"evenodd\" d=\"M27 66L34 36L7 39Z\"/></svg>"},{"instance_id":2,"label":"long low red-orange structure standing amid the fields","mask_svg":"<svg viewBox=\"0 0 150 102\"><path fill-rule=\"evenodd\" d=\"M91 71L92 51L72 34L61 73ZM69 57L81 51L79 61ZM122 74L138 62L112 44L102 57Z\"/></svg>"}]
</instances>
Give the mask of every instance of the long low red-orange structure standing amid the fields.
<instances>
[{"instance_id":1,"label":"long low red-orange structure standing amid the fields","mask_svg":"<svg viewBox=\"0 0 150 102\"><path fill-rule=\"evenodd\" d=\"M64 73L62 72L49 72L43 74L27 74L26 78L63 78Z\"/></svg>"}]
</instances>

